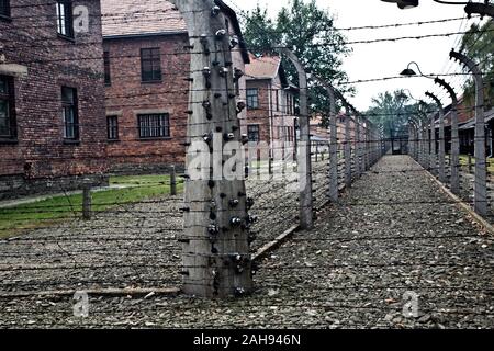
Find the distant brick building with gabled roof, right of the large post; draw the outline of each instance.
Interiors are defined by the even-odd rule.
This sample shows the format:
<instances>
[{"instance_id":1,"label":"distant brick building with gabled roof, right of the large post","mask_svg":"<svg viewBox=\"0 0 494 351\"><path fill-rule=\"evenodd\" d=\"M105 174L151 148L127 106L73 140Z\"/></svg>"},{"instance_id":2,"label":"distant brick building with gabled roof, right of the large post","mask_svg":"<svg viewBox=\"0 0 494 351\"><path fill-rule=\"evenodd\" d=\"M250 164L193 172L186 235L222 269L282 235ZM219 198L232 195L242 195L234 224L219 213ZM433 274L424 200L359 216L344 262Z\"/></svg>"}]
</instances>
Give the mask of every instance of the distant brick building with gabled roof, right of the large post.
<instances>
[{"instance_id":1,"label":"distant brick building with gabled roof, right of the large post","mask_svg":"<svg viewBox=\"0 0 494 351\"><path fill-rule=\"evenodd\" d=\"M246 66L247 124L249 141L284 143L295 139L297 89L287 79L279 56L255 57Z\"/></svg>"}]
</instances>

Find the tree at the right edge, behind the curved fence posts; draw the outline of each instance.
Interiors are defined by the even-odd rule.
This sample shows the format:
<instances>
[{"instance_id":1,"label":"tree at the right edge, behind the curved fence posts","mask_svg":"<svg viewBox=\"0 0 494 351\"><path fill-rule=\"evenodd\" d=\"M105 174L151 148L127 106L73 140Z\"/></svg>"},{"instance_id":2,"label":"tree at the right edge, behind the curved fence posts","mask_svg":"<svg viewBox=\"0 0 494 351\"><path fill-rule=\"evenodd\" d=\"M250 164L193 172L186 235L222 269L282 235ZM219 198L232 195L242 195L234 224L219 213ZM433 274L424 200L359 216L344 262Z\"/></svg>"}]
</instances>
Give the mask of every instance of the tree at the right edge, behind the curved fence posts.
<instances>
[{"instance_id":1,"label":"tree at the right edge, behind the curved fence posts","mask_svg":"<svg viewBox=\"0 0 494 351\"><path fill-rule=\"evenodd\" d=\"M469 32L463 35L461 52L479 64L484 72L485 105L494 103L494 20L483 25L472 24ZM475 105L475 84L469 79L464 84L464 101L467 105Z\"/></svg>"}]
</instances>

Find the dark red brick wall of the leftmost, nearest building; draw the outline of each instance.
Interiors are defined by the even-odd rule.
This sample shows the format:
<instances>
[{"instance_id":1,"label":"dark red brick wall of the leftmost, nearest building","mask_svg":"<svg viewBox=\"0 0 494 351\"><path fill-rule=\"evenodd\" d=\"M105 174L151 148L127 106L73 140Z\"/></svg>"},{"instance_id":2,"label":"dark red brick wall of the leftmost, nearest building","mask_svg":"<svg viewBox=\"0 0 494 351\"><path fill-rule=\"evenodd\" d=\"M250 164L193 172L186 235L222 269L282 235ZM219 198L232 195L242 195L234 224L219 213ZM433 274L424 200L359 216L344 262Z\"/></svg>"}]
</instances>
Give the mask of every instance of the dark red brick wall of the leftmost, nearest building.
<instances>
[{"instance_id":1,"label":"dark red brick wall of the leftmost, nearest building","mask_svg":"<svg viewBox=\"0 0 494 351\"><path fill-rule=\"evenodd\" d=\"M0 20L7 64L27 66L15 78L18 143L0 144L0 176L27 179L96 174L106 171L104 87L100 1L74 1L89 9L89 32L75 42L57 36L55 3L11 1L12 21ZM31 7L33 5L33 7ZM78 89L80 143L63 138L60 89Z\"/></svg>"}]
</instances>

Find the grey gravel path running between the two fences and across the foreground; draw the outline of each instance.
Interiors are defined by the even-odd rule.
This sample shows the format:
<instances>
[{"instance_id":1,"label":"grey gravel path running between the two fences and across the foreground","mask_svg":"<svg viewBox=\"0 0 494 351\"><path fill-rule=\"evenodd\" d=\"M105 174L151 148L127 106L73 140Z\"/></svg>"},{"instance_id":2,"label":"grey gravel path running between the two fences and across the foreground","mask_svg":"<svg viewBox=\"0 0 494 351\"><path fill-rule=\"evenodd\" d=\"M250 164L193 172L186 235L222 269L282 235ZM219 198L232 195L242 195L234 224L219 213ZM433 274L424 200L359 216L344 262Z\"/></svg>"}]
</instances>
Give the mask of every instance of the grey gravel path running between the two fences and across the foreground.
<instances>
[{"instance_id":1,"label":"grey gravel path running between the two fences and across the foreground","mask_svg":"<svg viewBox=\"0 0 494 351\"><path fill-rule=\"evenodd\" d=\"M493 238L449 202L411 158L388 156L339 204L322 211L313 230L297 233L263 260L248 297L90 296L88 318L72 316L68 297L0 298L0 324L493 328ZM168 279L156 269L149 275ZM414 317L403 314L405 293L417 297Z\"/></svg>"}]
</instances>

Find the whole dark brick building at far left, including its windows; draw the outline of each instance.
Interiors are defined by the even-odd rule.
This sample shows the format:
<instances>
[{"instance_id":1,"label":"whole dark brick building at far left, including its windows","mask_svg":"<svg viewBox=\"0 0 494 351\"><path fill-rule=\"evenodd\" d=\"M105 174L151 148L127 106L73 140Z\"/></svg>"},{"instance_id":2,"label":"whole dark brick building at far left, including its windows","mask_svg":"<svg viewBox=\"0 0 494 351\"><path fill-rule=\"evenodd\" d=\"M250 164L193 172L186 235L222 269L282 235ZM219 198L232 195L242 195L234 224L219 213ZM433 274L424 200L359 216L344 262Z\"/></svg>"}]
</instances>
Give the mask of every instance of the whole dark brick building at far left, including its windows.
<instances>
[{"instance_id":1,"label":"whole dark brick building at far left, including its windows","mask_svg":"<svg viewBox=\"0 0 494 351\"><path fill-rule=\"evenodd\" d=\"M94 0L0 1L0 199L105 183L100 15Z\"/></svg>"}]
</instances>

